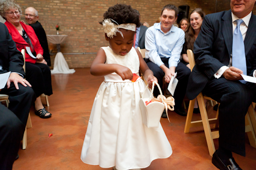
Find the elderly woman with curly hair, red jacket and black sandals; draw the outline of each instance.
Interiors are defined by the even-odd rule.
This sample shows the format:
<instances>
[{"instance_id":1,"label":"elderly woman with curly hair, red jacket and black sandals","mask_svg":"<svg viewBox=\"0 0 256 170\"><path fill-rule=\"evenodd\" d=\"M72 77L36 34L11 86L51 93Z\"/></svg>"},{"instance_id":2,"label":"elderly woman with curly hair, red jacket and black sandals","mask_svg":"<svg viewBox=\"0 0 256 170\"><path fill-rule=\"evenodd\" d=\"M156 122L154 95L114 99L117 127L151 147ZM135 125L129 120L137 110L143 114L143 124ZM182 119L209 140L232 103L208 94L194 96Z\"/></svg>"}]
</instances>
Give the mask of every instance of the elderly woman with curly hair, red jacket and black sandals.
<instances>
[{"instance_id":1,"label":"elderly woman with curly hair, red jacket and black sandals","mask_svg":"<svg viewBox=\"0 0 256 170\"><path fill-rule=\"evenodd\" d=\"M21 51L29 47L33 56L36 56L36 59L32 58L26 50L26 80L30 82L36 94L35 114L41 118L51 117L52 114L42 105L40 98L42 93L52 94L51 71L44 60L44 50L33 28L20 22L22 9L18 4L10 0L3 2L0 5L0 14L6 19L5 25L13 41L15 41L17 49Z\"/></svg>"}]
</instances>

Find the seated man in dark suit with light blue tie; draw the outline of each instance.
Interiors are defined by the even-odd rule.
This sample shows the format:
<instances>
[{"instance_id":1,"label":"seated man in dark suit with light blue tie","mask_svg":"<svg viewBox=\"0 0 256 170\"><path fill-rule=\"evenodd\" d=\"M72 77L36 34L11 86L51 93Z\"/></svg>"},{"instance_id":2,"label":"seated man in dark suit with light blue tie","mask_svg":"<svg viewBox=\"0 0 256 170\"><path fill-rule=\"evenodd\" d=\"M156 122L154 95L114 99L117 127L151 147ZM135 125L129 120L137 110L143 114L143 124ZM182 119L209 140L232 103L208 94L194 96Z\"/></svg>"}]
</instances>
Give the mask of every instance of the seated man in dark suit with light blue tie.
<instances>
[{"instance_id":1,"label":"seated man in dark suit with light blue tie","mask_svg":"<svg viewBox=\"0 0 256 170\"><path fill-rule=\"evenodd\" d=\"M212 157L220 169L241 169L232 152L245 156L245 114L255 101L256 85L241 81L240 74L256 76L254 3L231 0L231 10L206 15L194 44L196 65L189 77L187 97L193 100L202 91L221 103L219 149ZM234 65L237 61L240 63Z\"/></svg>"}]
</instances>

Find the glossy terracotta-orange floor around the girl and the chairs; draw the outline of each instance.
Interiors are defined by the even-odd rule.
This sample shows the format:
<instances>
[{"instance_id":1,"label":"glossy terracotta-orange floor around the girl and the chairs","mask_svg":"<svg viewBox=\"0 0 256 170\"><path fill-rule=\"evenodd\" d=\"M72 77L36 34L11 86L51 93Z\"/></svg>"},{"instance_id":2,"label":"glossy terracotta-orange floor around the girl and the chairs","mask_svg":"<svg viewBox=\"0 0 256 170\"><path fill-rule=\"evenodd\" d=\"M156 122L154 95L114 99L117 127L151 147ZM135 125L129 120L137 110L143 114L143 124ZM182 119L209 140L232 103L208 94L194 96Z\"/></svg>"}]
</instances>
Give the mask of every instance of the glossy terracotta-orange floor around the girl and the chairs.
<instances>
[{"instance_id":1,"label":"glossy terracotta-orange floor around the girl and the chairs","mask_svg":"<svg viewBox=\"0 0 256 170\"><path fill-rule=\"evenodd\" d=\"M22 150L20 145L19 158L13 169L103 169L80 160L91 108L102 81L103 77L92 76L89 68L76 69L74 74L52 75L53 95L49 96L50 107L46 107L52 117L41 119L31 108L33 127L27 130L28 146ZM207 106L207 109L214 116L212 107ZM171 123L162 118L161 124L172 145L173 155L154 160L145 169L217 169L211 163L203 129L193 128L185 134L186 117L169 111L169 118ZM200 119L200 114L193 119ZM50 138L49 133L53 133ZM218 139L214 141L218 148ZM256 149L249 145L248 139L246 154L246 157L233 156L243 169L256 169Z\"/></svg>"}]
</instances>

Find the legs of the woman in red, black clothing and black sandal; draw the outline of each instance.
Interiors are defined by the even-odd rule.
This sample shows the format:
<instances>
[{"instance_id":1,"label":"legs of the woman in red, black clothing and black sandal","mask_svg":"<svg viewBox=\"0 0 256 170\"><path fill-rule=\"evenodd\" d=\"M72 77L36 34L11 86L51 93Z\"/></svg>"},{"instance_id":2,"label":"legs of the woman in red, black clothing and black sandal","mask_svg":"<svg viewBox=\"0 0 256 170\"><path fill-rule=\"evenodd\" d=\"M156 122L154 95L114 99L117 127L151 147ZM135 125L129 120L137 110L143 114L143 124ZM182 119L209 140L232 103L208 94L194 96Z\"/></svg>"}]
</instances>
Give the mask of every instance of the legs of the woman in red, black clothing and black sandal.
<instances>
[{"instance_id":1,"label":"legs of the woman in red, black clothing and black sandal","mask_svg":"<svg viewBox=\"0 0 256 170\"><path fill-rule=\"evenodd\" d=\"M35 113L41 118L48 118L51 116L41 103L41 94L52 94L51 86L51 72L49 66L46 64L32 64L26 63L26 79L32 85L36 94ZM50 85L49 85L50 84Z\"/></svg>"}]
</instances>

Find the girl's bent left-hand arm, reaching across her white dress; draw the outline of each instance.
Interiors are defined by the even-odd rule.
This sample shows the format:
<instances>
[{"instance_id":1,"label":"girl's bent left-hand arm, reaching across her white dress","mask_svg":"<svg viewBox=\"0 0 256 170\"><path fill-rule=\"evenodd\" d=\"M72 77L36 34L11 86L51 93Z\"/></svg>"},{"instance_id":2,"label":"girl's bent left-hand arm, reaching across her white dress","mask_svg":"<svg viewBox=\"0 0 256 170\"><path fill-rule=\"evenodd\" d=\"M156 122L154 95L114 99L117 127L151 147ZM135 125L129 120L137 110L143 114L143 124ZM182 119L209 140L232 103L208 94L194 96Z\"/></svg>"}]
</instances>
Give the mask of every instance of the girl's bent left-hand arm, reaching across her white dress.
<instances>
[{"instance_id":1,"label":"girl's bent left-hand arm, reaching across her white dress","mask_svg":"<svg viewBox=\"0 0 256 170\"><path fill-rule=\"evenodd\" d=\"M100 48L91 65L90 71L93 76L105 76L116 72L116 74L121 76L122 80L133 79L133 73L129 68L119 64L105 64L105 61L106 54Z\"/></svg>"}]
</instances>

